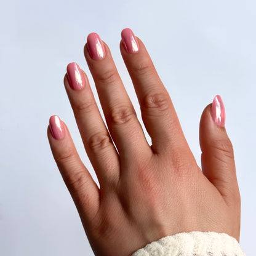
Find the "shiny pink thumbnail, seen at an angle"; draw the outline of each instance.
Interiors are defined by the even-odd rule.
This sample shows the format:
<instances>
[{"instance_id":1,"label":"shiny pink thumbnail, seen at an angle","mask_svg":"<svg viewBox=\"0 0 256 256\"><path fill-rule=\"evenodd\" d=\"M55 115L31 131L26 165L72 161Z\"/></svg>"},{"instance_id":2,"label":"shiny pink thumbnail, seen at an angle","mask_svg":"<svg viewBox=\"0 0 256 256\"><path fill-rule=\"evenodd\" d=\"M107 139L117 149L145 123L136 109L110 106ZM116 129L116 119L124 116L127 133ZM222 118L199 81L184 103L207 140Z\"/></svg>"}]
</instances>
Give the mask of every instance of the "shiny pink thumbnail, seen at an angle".
<instances>
[{"instance_id":1,"label":"shiny pink thumbnail, seen at an angle","mask_svg":"<svg viewBox=\"0 0 256 256\"><path fill-rule=\"evenodd\" d=\"M220 95L214 97L214 101L212 102L212 107L210 109L210 114L212 115L212 119L214 119L214 122L217 124L217 126L225 126L226 114Z\"/></svg>"}]
</instances>

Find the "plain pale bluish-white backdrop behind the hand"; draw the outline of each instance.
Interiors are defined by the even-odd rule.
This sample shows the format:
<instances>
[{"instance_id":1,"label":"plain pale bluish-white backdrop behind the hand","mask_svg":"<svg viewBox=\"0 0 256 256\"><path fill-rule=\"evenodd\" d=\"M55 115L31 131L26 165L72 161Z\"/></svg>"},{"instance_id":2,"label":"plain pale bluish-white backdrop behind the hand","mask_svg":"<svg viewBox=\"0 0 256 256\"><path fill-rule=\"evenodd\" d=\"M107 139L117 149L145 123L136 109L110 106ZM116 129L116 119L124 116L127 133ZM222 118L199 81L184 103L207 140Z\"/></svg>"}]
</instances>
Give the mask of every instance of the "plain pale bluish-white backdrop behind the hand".
<instances>
[{"instance_id":1,"label":"plain pale bluish-white backdrop behind the hand","mask_svg":"<svg viewBox=\"0 0 256 256\"><path fill-rule=\"evenodd\" d=\"M66 65L78 62L94 88L83 47L96 32L139 110L119 52L126 27L150 52L199 166L199 119L214 96L222 96L241 190L241 246L254 255L255 8L254 0L1 2L0 255L93 255L46 130L58 114L95 177L63 77Z\"/></svg>"}]
</instances>

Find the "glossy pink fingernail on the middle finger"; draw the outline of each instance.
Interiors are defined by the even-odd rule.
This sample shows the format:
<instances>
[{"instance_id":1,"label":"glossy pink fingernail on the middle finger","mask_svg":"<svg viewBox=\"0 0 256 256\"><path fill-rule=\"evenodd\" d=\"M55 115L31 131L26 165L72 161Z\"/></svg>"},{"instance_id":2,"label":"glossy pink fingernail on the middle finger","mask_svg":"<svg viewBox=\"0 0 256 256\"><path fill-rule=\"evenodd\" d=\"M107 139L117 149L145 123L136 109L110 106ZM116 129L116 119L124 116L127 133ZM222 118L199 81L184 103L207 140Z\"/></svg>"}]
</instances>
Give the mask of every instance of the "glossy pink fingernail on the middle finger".
<instances>
[{"instance_id":1,"label":"glossy pink fingernail on the middle finger","mask_svg":"<svg viewBox=\"0 0 256 256\"><path fill-rule=\"evenodd\" d=\"M105 57L106 51L102 39L96 33L90 33L87 37L87 48L90 57L94 60L101 60Z\"/></svg>"}]
</instances>

